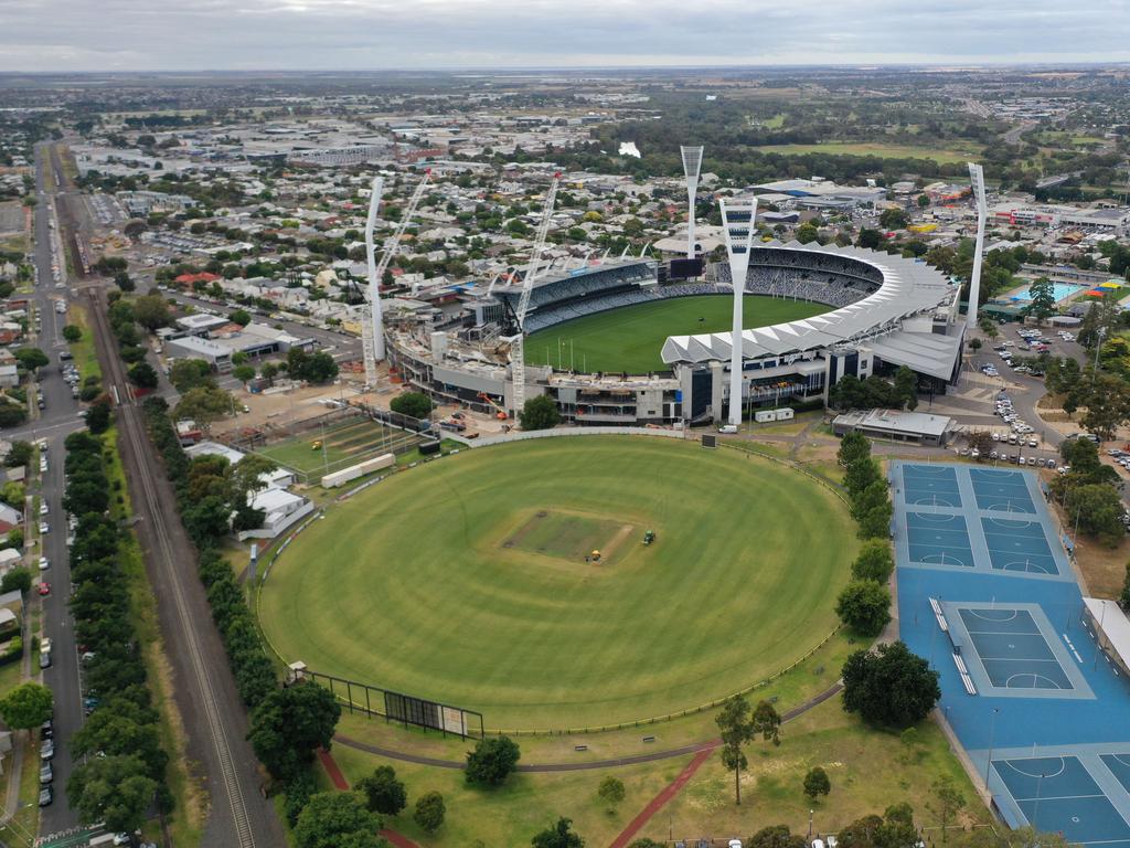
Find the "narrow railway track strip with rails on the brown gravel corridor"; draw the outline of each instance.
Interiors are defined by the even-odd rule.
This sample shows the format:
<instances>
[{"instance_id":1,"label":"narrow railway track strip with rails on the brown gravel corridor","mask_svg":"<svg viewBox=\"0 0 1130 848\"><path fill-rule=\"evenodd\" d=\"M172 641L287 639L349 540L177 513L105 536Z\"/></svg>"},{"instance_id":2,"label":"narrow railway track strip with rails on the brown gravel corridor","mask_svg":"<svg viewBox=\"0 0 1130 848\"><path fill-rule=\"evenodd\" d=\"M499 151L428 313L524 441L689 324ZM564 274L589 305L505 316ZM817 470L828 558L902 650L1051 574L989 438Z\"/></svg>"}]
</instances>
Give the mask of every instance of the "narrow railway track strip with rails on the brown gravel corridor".
<instances>
[{"instance_id":1,"label":"narrow railway track strip with rails on the brown gravel corridor","mask_svg":"<svg viewBox=\"0 0 1130 848\"><path fill-rule=\"evenodd\" d=\"M169 519L166 510L171 507L169 504L162 503L154 482L158 479L158 475L164 474L164 469L159 467L150 449L140 409L134 403L132 388L125 379L124 365L116 355L115 339L110 329L102 292L90 291L88 294L90 297L95 335L98 347L103 352L104 373L108 378L107 388L112 389L118 399L116 418L119 430L123 439L125 439L127 445L132 452L140 470L137 479L131 482L137 484L137 488L141 494L145 504L142 514L148 518L147 529L155 543L155 547L151 551L151 554L156 555L154 563L163 572L164 583L168 587L173 608L176 612L175 623L166 622L166 626L175 626L174 632L179 637L176 639L179 652L186 658L186 666L191 674L191 678L184 681L184 683L193 686L199 695L198 700L205 718L208 742L211 744L218 764L220 782L217 785L216 781L211 781L210 789L214 796L218 790L223 789L231 807L234 841L225 840L225 843L231 843L238 848L255 848L255 834L247 814L247 804L227 733L227 729L232 728L232 724L223 720L221 704L217 698L212 676L209 674L208 663L206 661L208 655L201 644L201 635L195 628L195 618L190 612L189 599L183 585L185 579L194 579L195 568L194 565L186 569L176 568L179 561L185 560L184 552L191 548L184 539L174 542L174 535L183 535L183 529L176 528L181 533L175 534L169 528ZM205 626L211 626L210 616L205 618ZM211 657L211 661L215 661L215 657Z\"/></svg>"}]
</instances>

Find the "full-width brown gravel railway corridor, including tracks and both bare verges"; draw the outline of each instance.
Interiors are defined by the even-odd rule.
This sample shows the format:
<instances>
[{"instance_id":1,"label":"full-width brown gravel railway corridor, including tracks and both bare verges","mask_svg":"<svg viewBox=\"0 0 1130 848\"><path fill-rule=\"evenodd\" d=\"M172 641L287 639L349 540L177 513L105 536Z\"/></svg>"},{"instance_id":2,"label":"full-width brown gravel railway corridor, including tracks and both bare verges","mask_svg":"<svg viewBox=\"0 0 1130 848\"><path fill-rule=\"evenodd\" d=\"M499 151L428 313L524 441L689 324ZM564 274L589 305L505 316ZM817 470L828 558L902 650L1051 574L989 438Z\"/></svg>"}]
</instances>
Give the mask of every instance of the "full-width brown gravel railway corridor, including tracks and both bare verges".
<instances>
[{"instance_id":1,"label":"full-width brown gravel railway corridor, including tracks and both bare verges","mask_svg":"<svg viewBox=\"0 0 1130 848\"><path fill-rule=\"evenodd\" d=\"M247 717L212 624L195 552L176 513L176 496L133 404L124 366L110 332L104 293L89 289L90 313L106 386L121 398L115 419L138 537L157 598L158 618L173 666L177 707L189 756L203 764L210 815L209 848L286 845L275 808L261 794L258 762L246 742Z\"/></svg>"}]
</instances>

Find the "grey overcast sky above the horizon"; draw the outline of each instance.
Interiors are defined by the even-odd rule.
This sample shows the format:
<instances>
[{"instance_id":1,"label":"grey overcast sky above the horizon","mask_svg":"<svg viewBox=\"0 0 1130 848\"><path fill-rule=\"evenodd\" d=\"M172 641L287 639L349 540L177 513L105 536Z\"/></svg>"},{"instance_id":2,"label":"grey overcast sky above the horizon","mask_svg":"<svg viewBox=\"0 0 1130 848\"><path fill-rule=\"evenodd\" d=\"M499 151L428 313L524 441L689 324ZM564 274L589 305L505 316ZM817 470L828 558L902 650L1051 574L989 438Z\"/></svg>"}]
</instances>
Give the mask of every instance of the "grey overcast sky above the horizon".
<instances>
[{"instance_id":1,"label":"grey overcast sky above the horizon","mask_svg":"<svg viewBox=\"0 0 1130 848\"><path fill-rule=\"evenodd\" d=\"M0 70L1130 61L1130 0L0 0Z\"/></svg>"}]
</instances>

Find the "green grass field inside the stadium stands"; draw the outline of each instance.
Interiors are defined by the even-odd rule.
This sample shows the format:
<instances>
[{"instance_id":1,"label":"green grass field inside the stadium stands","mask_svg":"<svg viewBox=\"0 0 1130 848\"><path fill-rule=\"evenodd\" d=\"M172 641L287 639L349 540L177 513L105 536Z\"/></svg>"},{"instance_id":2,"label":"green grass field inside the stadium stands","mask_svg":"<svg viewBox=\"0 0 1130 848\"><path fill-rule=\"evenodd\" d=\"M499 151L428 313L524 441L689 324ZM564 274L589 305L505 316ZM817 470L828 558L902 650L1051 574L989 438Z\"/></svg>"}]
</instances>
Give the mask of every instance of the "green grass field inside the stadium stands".
<instances>
[{"instance_id":1,"label":"green grass field inside the stadium stands","mask_svg":"<svg viewBox=\"0 0 1130 848\"><path fill-rule=\"evenodd\" d=\"M746 295L746 329L766 327L829 311L823 303ZM645 374L667 366L660 357L668 336L724 332L733 320L733 300L701 295L652 301L599 312L534 332L525 343L527 362L576 371Z\"/></svg>"}]
</instances>

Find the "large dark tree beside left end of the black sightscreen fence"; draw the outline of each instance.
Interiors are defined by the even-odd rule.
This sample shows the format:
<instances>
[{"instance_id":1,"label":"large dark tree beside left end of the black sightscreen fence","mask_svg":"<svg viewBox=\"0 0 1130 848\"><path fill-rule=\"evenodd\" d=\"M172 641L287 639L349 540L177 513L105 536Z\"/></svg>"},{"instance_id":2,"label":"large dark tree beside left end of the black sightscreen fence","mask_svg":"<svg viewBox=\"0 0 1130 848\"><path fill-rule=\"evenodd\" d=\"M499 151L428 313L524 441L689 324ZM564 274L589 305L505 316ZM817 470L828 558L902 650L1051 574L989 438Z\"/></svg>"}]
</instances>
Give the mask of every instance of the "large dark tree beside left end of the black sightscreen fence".
<instances>
[{"instance_id":1,"label":"large dark tree beside left end of the black sightscreen fence","mask_svg":"<svg viewBox=\"0 0 1130 848\"><path fill-rule=\"evenodd\" d=\"M278 689L251 715L247 739L255 756L280 780L290 780L329 750L341 716L337 698L316 683Z\"/></svg>"}]
</instances>

